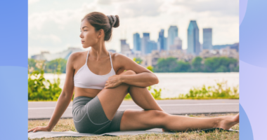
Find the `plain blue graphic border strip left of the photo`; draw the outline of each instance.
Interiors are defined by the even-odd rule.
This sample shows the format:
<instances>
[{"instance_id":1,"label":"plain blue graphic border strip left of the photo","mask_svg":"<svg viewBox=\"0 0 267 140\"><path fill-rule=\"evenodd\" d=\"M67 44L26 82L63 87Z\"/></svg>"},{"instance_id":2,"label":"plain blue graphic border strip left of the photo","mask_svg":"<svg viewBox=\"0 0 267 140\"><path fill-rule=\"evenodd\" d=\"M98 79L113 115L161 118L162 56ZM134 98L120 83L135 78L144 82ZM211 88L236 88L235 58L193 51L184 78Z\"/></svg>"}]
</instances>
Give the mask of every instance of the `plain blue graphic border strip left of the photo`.
<instances>
[{"instance_id":1,"label":"plain blue graphic border strip left of the photo","mask_svg":"<svg viewBox=\"0 0 267 140\"><path fill-rule=\"evenodd\" d=\"M0 139L27 139L28 1L1 1L0 17Z\"/></svg>"}]
</instances>

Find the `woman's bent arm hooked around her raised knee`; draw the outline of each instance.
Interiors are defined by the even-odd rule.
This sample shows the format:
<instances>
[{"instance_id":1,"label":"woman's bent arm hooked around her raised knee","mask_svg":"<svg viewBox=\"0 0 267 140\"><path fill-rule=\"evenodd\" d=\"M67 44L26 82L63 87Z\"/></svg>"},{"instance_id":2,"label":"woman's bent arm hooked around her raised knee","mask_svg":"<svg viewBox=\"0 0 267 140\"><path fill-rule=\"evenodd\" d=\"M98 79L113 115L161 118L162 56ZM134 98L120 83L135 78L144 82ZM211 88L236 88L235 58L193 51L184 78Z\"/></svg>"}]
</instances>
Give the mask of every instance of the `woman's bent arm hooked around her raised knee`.
<instances>
[{"instance_id":1,"label":"woman's bent arm hooked around her raised knee","mask_svg":"<svg viewBox=\"0 0 267 140\"><path fill-rule=\"evenodd\" d=\"M136 75L121 75L119 80L122 83L129 85L136 85L138 87L148 87L159 83L159 79L150 70L137 64L129 57L124 55L115 54L116 64L119 64L120 69L132 70L136 72Z\"/></svg>"}]
</instances>

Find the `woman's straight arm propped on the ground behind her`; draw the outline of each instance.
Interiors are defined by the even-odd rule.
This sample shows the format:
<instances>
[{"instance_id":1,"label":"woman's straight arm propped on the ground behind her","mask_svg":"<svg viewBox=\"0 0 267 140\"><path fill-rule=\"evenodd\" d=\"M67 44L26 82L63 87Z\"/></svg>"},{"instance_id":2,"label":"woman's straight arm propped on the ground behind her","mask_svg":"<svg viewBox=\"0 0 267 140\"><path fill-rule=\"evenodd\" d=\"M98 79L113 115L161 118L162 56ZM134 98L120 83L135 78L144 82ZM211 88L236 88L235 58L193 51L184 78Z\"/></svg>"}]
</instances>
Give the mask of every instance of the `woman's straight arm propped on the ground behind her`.
<instances>
[{"instance_id":1,"label":"woman's straight arm propped on the ground behind her","mask_svg":"<svg viewBox=\"0 0 267 140\"><path fill-rule=\"evenodd\" d=\"M77 57L77 54L72 53L67 60L67 66L66 66L66 78L63 90L58 97L58 102L56 103L56 109L53 111L53 115L51 116L51 119L49 120L49 123L46 127L34 127L28 132L37 132L37 131L51 131L53 130L53 127L56 126L58 123L58 120L60 120L60 117L63 115L65 110L67 109L67 106L69 106L70 101L72 99L73 90L74 90L74 59Z\"/></svg>"}]
</instances>

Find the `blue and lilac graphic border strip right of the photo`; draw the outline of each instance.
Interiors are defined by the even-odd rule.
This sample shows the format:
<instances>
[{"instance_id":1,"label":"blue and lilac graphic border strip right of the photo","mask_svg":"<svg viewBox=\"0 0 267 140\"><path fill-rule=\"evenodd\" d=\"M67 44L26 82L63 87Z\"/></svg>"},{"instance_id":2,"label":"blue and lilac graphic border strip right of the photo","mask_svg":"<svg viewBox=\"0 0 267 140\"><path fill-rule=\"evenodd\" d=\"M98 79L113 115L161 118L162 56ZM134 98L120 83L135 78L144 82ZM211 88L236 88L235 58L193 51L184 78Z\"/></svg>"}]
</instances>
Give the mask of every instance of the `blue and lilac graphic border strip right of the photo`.
<instances>
[{"instance_id":1,"label":"blue and lilac graphic border strip right of the photo","mask_svg":"<svg viewBox=\"0 0 267 140\"><path fill-rule=\"evenodd\" d=\"M266 6L240 0L240 139L266 139Z\"/></svg>"}]
</instances>

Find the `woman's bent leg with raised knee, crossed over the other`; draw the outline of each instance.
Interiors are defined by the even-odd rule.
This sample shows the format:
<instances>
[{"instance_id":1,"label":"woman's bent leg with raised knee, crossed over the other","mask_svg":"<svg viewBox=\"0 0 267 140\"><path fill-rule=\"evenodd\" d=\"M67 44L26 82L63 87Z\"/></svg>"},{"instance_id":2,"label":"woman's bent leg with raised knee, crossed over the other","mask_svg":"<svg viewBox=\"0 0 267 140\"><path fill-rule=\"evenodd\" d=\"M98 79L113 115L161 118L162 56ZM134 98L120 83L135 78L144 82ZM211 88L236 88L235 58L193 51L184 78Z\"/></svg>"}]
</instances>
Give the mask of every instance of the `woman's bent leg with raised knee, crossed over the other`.
<instances>
[{"instance_id":1,"label":"woman's bent leg with raised knee, crossed over the other","mask_svg":"<svg viewBox=\"0 0 267 140\"><path fill-rule=\"evenodd\" d=\"M134 71L128 70L120 73L122 75L133 75L136 74ZM145 110L159 110L163 111L155 99L152 97L147 87L136 87L133 85L128 85L126 83L122 83L121 85L115 88L103 89L98 93L98 99L100 100L101 105L103 106L103 110L105 111L105 115L109 120L115 115L117 109L119 109L119 105L122 104L122 101L126 94L130 92L133 102L136 102L138 106ZM112 105L112 106L111 106Z\"/></svg>"}]
</instances>

